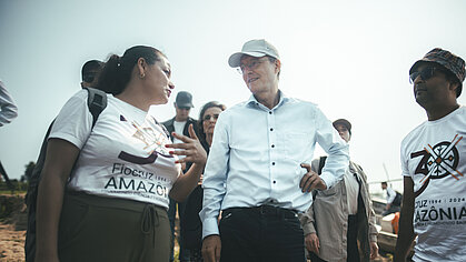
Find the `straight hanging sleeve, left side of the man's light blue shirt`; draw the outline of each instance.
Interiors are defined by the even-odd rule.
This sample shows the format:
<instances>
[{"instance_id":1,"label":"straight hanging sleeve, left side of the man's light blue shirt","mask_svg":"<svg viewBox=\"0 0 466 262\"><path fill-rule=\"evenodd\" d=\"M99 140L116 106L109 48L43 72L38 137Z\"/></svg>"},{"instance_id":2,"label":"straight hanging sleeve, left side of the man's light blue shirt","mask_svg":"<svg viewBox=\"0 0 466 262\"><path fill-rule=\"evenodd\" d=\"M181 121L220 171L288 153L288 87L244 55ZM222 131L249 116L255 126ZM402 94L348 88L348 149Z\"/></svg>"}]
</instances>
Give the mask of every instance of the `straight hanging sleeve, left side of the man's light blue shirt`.
<instances>
[{"instance_id":1,"label":"straight hanging sleeve, left side of the man's light blue shirt","mask_svg":"<svg viewBox=\"0 0 466 262\"><path fill-rule=\"evenodd\" d=\"M225 112L217 120L212 145L204 174L204 202L199 216L202 221L202 239L219 234L218 215L221 209L226 189L228 161L229 161L229 138L228 121Z\"/></svg>"}]
</instances>

